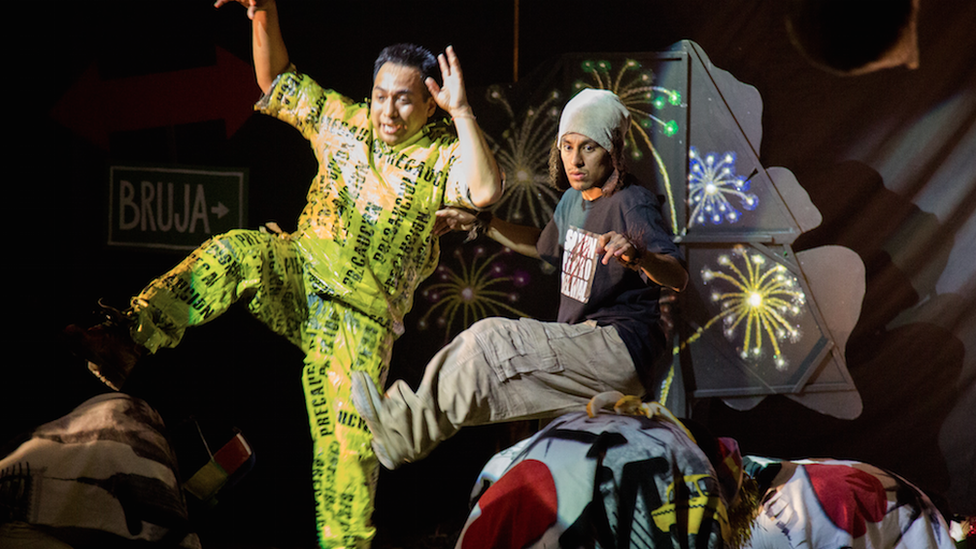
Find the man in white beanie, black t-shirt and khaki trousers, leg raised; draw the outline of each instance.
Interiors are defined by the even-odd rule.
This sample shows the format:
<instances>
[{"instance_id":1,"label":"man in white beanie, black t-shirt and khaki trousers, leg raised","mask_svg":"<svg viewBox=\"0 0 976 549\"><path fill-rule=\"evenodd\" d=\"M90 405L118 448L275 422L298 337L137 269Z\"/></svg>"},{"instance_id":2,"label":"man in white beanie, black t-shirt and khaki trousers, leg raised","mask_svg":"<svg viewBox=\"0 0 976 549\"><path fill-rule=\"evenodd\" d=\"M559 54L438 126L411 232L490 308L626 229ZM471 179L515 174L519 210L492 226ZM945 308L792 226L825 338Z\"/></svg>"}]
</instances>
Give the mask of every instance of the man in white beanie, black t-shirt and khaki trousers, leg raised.
<instances>
[{"instance_id":1,"label":"man in white beanie, black t-shirt and khaki trousers, leg raised","mask_svg":"<svg viewBox=\"0 0 976 549\"><path fill-rule=\"evenodd\" d=\"M616 95L581 91L549 160L551 183L569 187L553 219L542 230L481 221L492 239L561 269L558 322L481 320L431 360L416 392L398 380L381 395L353 372L353 404L384 466L421 459L464 426L555 417L605 391L645 393L641 380L665 351L660 289L684 289L688 273L657 197L624 170L629 123ZM438 217L440 231L479 224L457 209Z\"/></svg>"}]
</instances>

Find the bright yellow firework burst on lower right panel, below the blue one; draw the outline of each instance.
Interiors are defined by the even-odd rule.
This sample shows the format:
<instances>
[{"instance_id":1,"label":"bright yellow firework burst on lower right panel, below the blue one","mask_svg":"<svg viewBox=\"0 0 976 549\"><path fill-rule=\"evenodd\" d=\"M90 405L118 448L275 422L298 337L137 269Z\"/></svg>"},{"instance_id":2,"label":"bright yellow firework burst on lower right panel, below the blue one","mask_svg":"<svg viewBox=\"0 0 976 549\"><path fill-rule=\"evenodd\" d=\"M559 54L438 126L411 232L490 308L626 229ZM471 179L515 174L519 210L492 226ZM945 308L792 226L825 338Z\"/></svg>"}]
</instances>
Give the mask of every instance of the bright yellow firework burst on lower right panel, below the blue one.
<instances>
[{"instance_id":1,"label":"bright yellow firework burst on lower right panel, below the blue one","mask_svg":"<svg viewBox=\"0 0 976 549\"><path fill-rule=\"evenodd\" d=\"M795 343L801 337L799 328L787 318L799 315L806 302L806 294L796 277L781 263L759 253L750 254L741 246L734 248L731 255L720 255L718 264L721 268L717 270L702 269L702 280L706 285L721 281L724 284L715 286L731 285L731 289L716 287L712 291L711 300L722 311L703 329L722 321L722 331L733 343L739 341L741 333L738 351L743 359L760 358L766 341L772 347L776 368L785 369L787 361L780 342Z\"/></svg>"}]
</instances>

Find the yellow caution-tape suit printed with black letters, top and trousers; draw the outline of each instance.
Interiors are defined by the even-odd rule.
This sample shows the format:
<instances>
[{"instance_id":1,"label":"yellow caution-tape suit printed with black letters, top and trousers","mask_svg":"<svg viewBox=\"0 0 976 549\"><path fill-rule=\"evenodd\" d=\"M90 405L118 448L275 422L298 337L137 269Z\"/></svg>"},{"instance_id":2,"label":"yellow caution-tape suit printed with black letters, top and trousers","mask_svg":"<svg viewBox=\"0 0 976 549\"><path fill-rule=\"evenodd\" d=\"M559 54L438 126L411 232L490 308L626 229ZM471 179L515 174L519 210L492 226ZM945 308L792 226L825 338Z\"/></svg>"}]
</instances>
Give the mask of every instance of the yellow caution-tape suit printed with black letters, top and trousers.
<instances>
[{"instance_id":1,"label":"yellow caution-tape suit printed with black letters, top and trousers","mask_svg":"<svg viewBox=\"0 0 976 549\"><path fill-rule=\"evenodd\" d=\"M349 372L382 386L417 285L437 264L443 205L473 207L450 182L457 138L430 123L395 147L374 139L369 107L291 67L256 109L302 132L319 162L291 235L214 237L133 298L133 337L155 352L237 299L305 352L302 383L313 440L322 547L368 546L377 473L370 434L349 398Z\"/></svg>"}]
</instances>

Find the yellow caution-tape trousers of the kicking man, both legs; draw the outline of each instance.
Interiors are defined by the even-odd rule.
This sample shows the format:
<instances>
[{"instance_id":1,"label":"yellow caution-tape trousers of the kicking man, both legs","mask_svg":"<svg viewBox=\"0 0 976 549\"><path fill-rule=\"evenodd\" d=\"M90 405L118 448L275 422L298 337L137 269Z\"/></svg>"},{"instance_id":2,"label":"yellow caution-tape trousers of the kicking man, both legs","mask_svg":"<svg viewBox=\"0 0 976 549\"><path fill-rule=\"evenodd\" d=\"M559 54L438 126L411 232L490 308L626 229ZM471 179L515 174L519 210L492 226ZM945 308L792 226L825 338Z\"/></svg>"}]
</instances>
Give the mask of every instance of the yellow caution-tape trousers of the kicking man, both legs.
<instances>
[{"instance_id":1,"label":"yellow caution-tape trousers of the kicking man, both legs","mask_svg":"<svg viewBox=\"0 0 976 549\"><path fill-rule=\"evenodd\" d=\"M312 478L322 547L368 547L377 461L349 398L349 372L380 386L393 334L341 303L308 295L294 242L257 231L216 236L133 298L133 338L155 352L216 318L241 297L276 333L305 352L302 384L313 442Z\"/></svg>"}]
</instances>

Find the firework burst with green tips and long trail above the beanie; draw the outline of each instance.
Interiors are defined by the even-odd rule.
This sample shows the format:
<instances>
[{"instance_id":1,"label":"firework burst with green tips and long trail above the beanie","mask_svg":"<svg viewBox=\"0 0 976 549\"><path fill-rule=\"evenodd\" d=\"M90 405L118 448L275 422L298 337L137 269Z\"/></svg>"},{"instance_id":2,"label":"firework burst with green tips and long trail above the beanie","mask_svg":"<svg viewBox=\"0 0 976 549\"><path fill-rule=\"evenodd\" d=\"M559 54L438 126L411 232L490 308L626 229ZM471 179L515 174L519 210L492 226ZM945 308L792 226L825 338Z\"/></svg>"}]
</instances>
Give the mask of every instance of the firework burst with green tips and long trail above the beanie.
<instances>
[{"instance_id":1,"label":"firework burst with green tips and long trail above the beanie","mask_svg":"<svg viewBox=\"0 0 976 549\"><path fill-rule=\"evenodd\" d=\"M617 94L620 101L630 111L630 129L627 132L626 146L634 160L644 157L644 148L651 153L657 165L658 172L664 182L664 189L671 209L671 230L678 232L674 211L674 196L671 189L671 178L668 169L654 148L649 132L657 128L661 133L670 137L678 133L678 123L675 120L664 120L653 114L668 105L681 106L681 94L676 90L654 85L654 72L645 69L639 61L627 59L617 73L611 74L613 67L609 61L583 61L583 72L592 78L592 82L577 81L573 86L580 90L595 87L609 90Z\"/></svg>"}]
</instances>

